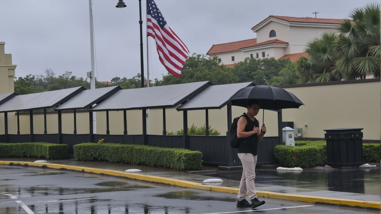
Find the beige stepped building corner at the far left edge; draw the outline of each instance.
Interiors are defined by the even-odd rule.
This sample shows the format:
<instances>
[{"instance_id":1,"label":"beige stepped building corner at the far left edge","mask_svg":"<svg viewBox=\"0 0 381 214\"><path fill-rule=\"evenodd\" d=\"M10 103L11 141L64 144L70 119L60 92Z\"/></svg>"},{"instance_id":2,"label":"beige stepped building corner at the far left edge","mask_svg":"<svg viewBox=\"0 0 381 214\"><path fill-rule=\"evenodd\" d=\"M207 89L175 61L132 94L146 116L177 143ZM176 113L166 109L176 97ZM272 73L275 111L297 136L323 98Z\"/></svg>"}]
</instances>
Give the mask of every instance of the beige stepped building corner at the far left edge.
<instances>
[{"instance_id":1,"label":"beige stepped building corner at the far left edge","mask_svg":"<svg viewBox=\"0 0 381 214\"><path fill-rule=\"evenodd\" d=\"M5 54L5 42L0 42L0 94L14 92L14 70L12 55Z\"/></svg>"}]
</instances>

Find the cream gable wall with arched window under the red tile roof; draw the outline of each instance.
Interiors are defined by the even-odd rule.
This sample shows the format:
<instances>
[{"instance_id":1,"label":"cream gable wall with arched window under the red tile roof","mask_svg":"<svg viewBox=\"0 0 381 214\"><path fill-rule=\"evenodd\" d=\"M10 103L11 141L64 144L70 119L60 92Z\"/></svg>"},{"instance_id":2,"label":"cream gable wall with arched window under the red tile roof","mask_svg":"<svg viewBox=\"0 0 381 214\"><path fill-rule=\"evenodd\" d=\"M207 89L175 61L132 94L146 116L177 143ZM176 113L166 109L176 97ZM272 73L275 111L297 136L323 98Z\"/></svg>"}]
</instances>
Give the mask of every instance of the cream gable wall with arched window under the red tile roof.
<instances>
[{"instance_id":1,"label":"cream gable wall with arched window under the red tile roof","mask_svg":"<svg viewBox=\"0 0 381 214\"><path fill-rule=\"evenodd\" d=\"M270 37L270 31L275 30L276 37ZM267 40L279 39L284 42L290 41L290 26L276 21L269 22L257 32L257 43L265 42Z\"/></svg>"}]
</instances>

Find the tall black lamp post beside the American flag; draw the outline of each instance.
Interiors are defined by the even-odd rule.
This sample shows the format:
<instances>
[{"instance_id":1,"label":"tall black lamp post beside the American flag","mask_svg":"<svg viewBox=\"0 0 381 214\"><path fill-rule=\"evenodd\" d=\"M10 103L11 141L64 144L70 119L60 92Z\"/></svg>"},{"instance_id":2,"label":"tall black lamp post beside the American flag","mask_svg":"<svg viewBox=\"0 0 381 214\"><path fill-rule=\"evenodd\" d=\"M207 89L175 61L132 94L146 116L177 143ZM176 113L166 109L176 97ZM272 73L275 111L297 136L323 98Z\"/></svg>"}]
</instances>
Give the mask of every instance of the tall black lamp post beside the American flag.
<instances>
[{"instance_id":1,"label":"tall black lamp post beside the American flag","mask_svg":"<svg viewBox=\"0 0 381 214\"><path fill-rule=\"evenodd\" d=\"M119 0L117 8L125 8L126 4L123 0ZM143 21L142 21L142 1L139 0L139 24L140 24L140 80L141 80L141 88L144 88L144 61L143 61ZM142 121L143 121L143 144L147 144L147 121L146 121L146 109L142 109Z\"/></svg>"}]
</instances>

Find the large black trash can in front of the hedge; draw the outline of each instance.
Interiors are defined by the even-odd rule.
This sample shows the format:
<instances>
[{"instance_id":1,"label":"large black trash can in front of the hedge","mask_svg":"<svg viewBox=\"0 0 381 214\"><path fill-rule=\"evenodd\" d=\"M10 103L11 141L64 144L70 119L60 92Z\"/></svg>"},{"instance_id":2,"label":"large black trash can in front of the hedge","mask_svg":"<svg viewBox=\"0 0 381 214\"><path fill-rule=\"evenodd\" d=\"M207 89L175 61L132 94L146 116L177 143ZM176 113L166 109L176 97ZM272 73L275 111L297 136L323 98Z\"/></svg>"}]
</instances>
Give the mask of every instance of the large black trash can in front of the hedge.
<instances>
[{"instance_id":1,"label":"large black trash can in front of the hedge","mask_svg":"<svg viewBox=\"0 0 381 214\"><path fill-rule=\"evenodd\" d=\"M334 168L357 167L363 162L362 128L325 129L327 165Z\"/></svg>"}]
</instances>

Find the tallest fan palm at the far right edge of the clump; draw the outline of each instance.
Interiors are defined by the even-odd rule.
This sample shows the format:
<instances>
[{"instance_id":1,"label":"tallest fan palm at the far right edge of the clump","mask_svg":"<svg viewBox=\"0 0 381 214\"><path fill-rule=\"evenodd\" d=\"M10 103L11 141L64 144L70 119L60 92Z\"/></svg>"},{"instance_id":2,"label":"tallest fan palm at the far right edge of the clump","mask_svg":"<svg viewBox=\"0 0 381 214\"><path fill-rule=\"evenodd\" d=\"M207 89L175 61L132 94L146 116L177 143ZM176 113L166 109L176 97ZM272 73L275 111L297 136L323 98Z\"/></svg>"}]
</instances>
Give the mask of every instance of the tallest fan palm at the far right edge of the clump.
<instances>
[{"instance_id":1,"label":"tallest fan palm at the far right edge of the clump","mask_svg":"<svg viewBox=\"0 0 381 214\"><path fill-rule=\"evenodd\" d=\"M336 66L346 79L380 77L380 6L378 3L356 8L350 19L336 28L339 35L333 49L339 59Z\"/></svg>"}]
</instances>

